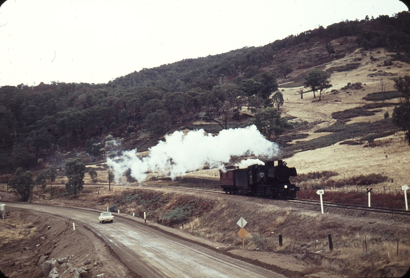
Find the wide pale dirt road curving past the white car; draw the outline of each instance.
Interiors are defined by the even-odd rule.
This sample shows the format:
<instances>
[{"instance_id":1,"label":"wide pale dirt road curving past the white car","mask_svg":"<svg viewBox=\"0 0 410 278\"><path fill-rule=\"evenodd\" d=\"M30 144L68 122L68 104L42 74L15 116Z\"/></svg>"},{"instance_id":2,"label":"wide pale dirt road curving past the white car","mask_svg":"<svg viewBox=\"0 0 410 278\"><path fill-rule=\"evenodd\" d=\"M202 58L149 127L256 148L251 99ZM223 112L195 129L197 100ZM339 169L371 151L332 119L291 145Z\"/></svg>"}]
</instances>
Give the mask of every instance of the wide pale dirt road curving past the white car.
<instances>
[{"instance_id":1,"label":"wide pale dirt road curving past the white car","mask_svg":"<svg viewBox=\"0 0 410 278\"><path fill-rule=\"evenodd\" d=\"M100 224L98 212L92 210L20 203L7 206L71 217L103 238L127 267L143 277L284 277L133 219L115 217L114 223Z\"/></svg>"}]
</instances>

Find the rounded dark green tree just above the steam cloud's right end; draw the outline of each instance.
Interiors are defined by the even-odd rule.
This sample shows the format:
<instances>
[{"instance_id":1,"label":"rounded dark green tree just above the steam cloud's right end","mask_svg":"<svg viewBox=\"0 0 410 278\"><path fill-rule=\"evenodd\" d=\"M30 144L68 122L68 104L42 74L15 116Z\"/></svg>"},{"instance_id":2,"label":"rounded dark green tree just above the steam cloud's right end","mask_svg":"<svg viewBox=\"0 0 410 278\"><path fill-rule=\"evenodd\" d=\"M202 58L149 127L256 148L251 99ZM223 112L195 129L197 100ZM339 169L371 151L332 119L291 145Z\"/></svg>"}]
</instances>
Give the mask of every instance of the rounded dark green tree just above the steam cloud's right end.
<instances>
[{"instance_id":1,"label":"rounded dark green tree just above the steam cloud's right end","mask_svg":"<svg viewBox=\"0 0 410 278\"><path fill-rule=\"evenodd\" d=\"M256 125L258 131L268 140L277 139L286 130L293 128L293 125L280 117L279 111L273 107L256 110L250 124Z\"/></svg>"}]
</instances>

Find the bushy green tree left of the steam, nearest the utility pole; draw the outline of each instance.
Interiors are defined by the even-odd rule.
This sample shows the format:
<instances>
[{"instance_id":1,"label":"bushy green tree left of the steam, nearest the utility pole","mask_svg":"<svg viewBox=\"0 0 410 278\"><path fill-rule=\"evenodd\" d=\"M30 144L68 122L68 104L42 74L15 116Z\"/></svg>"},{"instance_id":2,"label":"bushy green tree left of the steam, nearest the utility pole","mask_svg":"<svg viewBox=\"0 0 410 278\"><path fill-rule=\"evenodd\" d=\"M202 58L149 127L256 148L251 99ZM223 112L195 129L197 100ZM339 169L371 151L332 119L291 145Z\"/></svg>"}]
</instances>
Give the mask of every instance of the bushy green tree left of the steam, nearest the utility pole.
<instances>
[{"instance_id":1,"label":"bushy green tree left of the steam, nearest the utility pole","mask_svg":"<svg viewBox=\"0 0 410 278\"><path fill-rule=\"evenodd\" d=\"M66 183L67 193L77 196L84 185L84 175L86 174L86 165L79 158L69 158L66 161L66 176L68 182Z\"/></svg>"}]
</instances>

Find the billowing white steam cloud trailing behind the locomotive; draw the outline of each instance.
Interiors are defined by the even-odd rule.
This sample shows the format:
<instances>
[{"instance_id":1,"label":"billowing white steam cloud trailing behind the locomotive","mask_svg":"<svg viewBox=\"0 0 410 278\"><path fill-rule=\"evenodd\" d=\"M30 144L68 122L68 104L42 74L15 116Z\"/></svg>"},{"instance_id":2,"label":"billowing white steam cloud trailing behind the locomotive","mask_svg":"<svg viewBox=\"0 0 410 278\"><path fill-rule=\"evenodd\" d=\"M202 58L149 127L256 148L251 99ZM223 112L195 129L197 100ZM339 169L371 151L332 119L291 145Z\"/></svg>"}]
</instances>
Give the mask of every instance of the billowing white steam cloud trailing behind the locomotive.
<instances>
[{"instance_id":1,"label":"billowing white steam cloud trailing behind the locomotive","mask_svg":"<svg viewBox=\"0 0 410 278\"><path fill-rule=\"evenodd\" d=\"M223 163L229 162L232 156L272 158L278 152L278 145L265 139L256 126L251 125L243 129L222 130L217 136L207 135L203 130L187 134L176 131L165 136L165 141L151 147L146 157L140 159L134 149L114 159L108 158L107 163L114 170L117 180L122 173L131 169L131 176L140 182L147 178L147 172L175 178L204 165L224 168Z\"/></svg>"}]
</instances>

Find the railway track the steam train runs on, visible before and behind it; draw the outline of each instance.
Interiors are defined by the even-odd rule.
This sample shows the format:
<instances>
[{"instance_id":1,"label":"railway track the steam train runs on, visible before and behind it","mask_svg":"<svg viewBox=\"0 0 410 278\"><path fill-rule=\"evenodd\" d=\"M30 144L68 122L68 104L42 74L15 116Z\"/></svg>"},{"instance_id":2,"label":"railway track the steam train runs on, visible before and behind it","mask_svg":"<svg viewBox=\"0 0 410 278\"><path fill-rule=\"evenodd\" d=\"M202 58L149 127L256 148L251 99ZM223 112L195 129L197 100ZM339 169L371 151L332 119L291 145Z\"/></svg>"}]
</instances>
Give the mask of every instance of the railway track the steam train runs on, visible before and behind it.
<instances>
[{"instance_id":1,"label":"railway track the steam train runs on, visible before and behind it","mask_svg":"<svg viewBox=\"0 0 410 278\"><path fill-rule=\"evenodd\" d=\"M195 188L195 187L184 187L184 186L143 185L142 187L183 189L183 190L205 191L205 192L210 192L210 193L224 194L224 191L218 190L218 189ZM297 199L297 200L275 200L275 201L301 203L301 204L320 206L320 201L315 201L315 200ZM364 211L372 211L372 212L391 213L391 214L397 214L397 215L403 215L403 216L410 216L410 211L401 210L401 209L394 209L394 208L367 207L367 206L360 206L360 205L340 204L340 203L331 203L331 202L323 202L323 206L334 207L334 208L344 208L344 209L356 209L356 210L364 210Z\"/></svg>"}]
</instances>

